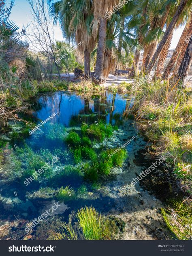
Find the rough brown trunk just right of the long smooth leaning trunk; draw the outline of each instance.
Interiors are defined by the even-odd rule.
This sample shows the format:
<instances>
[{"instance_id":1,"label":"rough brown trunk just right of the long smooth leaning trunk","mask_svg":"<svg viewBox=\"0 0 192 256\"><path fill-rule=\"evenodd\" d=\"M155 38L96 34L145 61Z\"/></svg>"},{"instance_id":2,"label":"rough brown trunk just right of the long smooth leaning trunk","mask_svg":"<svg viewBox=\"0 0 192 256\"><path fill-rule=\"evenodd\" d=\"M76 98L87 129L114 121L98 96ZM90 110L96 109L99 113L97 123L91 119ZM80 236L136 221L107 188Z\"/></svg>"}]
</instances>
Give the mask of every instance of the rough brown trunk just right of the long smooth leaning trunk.
<instances>
[{"instance_id":1,"label":"rough brown trunk just right of the long smooth leaning trunk","mask_svg":"<svg viewBox=\"0 0 192 256\"><path fill-rule=\"evenodd\" d=\"M156 72L155 72L155 77L161 77L161 73L164 69L165 60L168 55L168 51L169 51L169 47L171 45L172 38L173 38L173 32L169 35L169 38L159 55L159 60L158 60L158 64L157 64L157 68L156 68Z\"/></svg>"}]
</instances>

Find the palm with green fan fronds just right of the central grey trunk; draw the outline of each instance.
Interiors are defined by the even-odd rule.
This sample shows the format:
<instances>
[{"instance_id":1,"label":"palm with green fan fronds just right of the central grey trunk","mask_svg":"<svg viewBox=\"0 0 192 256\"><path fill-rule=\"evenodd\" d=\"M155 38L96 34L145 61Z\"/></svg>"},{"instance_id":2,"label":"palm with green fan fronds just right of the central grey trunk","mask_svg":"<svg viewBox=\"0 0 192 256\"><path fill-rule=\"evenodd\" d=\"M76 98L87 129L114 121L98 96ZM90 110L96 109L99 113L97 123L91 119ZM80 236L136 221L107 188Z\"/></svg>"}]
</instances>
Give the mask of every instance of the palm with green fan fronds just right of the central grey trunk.
<instances>
[{"instance_id":1,"label":"palm with green fan fronds just right of the central grey trunk","mask_svg":"<svg viewBox=\"0 0 192 256\"><path fill-rule=\"evenodd\" d=\"M135 26L133 14L136 11L134 3L129 3L108 21L103 68L105 79L110 70L115 67L115 61L117 64L123 64L125 60L128 62L134 48L137 47L136 36L132 33Z\"/></svg>"}]
</instances>

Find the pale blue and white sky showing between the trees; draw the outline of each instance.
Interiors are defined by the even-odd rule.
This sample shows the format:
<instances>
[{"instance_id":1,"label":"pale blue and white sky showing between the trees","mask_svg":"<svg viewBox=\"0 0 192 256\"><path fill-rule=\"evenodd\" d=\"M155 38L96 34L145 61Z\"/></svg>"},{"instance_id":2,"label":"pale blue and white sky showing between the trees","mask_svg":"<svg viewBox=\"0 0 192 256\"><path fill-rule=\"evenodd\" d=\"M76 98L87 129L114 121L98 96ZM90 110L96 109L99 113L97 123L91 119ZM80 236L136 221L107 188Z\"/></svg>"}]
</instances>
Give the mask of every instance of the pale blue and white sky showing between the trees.
<instances>
[{"instance_id":1,"label":"pale blue and white sky showing between the trees","mask_svg":"<svg viewBox=\"0 0 192 256\"><path fill-rule=\"evenodd\" d=\"M45 2L47 1L45 0ZM10 0L7 0L6 4L8 5L9 3ZM15 23L17 24L17 26L19 26L20 29L23 27L23 25L26 26L30 21L32 21L30 5L26 0L15 0L15 6L13 6L10 19L15 21ZM170 49L175 49L182 32L183 27L174 31ZM54 34L55 40L63 40L62 32L60 30L59 25L54 26Z\"/></svg>"}]
</instances>

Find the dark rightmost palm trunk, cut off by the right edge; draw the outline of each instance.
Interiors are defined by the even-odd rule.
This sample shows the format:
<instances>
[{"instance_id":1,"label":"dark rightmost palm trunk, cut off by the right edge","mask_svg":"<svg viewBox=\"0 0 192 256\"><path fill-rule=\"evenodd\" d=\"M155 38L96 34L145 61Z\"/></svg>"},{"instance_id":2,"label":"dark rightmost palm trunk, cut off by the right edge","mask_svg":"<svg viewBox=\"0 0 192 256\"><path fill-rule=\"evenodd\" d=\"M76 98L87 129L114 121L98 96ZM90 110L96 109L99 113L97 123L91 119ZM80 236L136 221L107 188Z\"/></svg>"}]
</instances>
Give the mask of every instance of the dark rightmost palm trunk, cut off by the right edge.
<instances>
[{"instance_id":1,"label":"dark rightmost palm trunk, cut off by the right edge","mask_svg":"<svg viewBox=\"0 0 192 256\"><path fill-rule=\"evenodd\" d=\"M186 82L186 77L188 75L191 64L192 64L192 37L190 38L188 47L186 49L186 53L183 57L183 60L181 62L181 66L178 72L178 77L179 79L181 79L183 85Z\"/></svg>"}]
</instances>

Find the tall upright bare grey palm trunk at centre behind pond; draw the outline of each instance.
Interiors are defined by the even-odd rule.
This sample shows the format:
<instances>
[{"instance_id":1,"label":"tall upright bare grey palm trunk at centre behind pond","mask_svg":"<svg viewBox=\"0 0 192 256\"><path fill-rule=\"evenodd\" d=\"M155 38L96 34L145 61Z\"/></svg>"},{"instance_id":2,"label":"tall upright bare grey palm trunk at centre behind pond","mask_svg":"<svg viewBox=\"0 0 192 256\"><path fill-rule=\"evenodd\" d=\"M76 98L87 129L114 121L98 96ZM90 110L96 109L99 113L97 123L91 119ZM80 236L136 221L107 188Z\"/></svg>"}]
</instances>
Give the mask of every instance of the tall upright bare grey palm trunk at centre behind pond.
<instances>
[{"instance_id":1,"label":"tall upright bare grey palm trunk at centre behind pond","mask_svg":"<svg viewBox=\"0 0 192 256\"><path fill-rule=\"evenodd\" d=\"M104 81L103 65L104 65L106 32L107 32L107 19L100 18L97 60L96 60L95 75L94 75L97 80L97 83L102 83Z\"/></svg>"}]
</instances>

